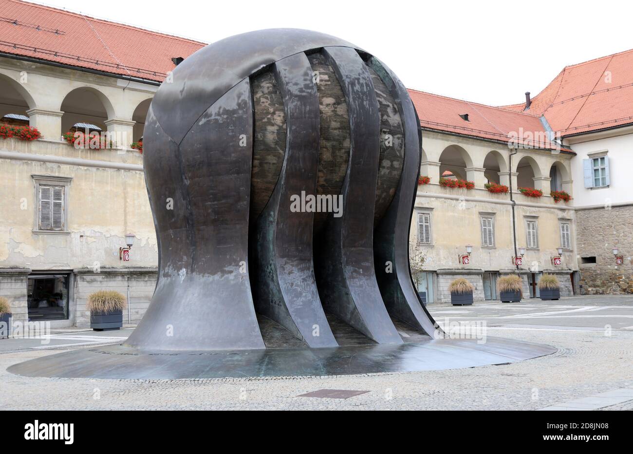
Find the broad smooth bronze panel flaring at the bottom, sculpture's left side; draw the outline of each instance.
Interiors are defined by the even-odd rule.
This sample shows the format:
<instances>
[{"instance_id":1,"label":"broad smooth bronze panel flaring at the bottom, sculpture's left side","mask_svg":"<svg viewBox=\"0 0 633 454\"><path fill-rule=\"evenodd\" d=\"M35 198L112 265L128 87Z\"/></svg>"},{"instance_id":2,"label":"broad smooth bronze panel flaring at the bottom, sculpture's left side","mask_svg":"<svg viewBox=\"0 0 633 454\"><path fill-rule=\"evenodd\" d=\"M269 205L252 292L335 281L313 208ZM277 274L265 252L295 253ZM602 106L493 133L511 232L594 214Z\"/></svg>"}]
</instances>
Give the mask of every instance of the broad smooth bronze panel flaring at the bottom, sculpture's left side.
<instances>
[{"instance_id":1,"label":"broad smooth bronze panel flaring at the bottom, sculpture's left side","mask_svg":"<svg viewBox=\"0 0 633 454\"><path fill-rule=\"evenodd\" d=\"M146 123L144 138L144 165L151 168L146 175L160 178L147 182L161 232L160 274L151 305L126 344L147 350L265 348L248 276L249 80L206 110L180 146L154 120Z\"/></svg>"}]
</instances>

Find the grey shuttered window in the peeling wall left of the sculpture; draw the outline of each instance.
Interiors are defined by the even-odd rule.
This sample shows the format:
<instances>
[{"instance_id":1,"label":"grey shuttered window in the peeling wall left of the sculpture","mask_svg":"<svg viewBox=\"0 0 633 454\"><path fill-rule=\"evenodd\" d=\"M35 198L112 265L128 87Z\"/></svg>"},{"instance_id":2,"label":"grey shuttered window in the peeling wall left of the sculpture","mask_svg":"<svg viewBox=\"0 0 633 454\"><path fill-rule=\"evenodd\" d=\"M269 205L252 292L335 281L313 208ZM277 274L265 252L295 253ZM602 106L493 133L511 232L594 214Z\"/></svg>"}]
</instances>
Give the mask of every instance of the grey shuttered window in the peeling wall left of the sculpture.
<instances>
[{"instance_id":1,"label":"grey shuttered window in the peeling wall left of the sculpture","mask_svg":"<svg viewBox=\"0 0 633 454\"><path fill-rule=\"evenodd\" d=\"M68 188L72 179L32 175L35 183L36 233L68 234Z\"/></svg>"}]
</instances>

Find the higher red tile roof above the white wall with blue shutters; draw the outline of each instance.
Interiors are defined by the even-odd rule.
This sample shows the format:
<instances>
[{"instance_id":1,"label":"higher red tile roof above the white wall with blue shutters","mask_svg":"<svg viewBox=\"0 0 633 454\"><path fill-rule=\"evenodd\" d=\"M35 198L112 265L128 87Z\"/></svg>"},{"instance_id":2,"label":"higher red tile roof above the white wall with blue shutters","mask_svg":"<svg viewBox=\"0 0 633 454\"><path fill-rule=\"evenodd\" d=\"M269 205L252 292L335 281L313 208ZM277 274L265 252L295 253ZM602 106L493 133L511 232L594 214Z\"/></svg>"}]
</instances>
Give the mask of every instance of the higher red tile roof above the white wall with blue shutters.
<instances>
[{"instance_id":1,"label":"higher red tile roof above the white wall with blue shutters","mask_svg":"<svg viewBox=\"0 0 633 454\"><path fill-rule=\"evenodd\" d=\"M565 66L526 112L562 136L633 123L633 49ZM503 106L523 110L525 103Z\"/></svg>"}]
</instances>

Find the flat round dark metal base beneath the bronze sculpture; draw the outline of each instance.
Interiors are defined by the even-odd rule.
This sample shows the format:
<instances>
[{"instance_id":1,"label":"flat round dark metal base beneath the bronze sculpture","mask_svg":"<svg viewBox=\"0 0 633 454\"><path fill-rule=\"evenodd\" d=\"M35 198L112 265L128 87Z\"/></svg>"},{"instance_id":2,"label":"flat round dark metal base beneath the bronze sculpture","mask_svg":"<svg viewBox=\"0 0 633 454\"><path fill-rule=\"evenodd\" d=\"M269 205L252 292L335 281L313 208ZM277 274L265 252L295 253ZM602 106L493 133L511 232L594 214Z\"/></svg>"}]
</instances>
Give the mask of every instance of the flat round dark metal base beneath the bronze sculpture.
<instances>
[{"instance_id":1,"label":"flat round dark metal base beneath the bronze sculpture","mask_svg":"<svg viewBox=\"0 0 633 454\"><path fill-rule=\"evenodd\" d=\"M555 353L544 344L487 337L399 345L227 351L139 351L107 346L66 351L9 367L28 377L218 379L418 372L518 362Z\"/></svg>"}]
</instances>

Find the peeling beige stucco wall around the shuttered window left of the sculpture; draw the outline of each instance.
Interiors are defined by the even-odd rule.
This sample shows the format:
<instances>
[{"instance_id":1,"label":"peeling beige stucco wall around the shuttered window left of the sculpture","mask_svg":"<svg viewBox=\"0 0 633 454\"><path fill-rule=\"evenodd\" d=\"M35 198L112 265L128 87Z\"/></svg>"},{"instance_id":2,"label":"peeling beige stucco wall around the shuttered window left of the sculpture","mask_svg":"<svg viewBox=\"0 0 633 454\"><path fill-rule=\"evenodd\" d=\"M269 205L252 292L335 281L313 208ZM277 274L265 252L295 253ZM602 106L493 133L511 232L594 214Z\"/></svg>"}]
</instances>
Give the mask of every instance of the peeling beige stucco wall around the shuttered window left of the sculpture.
<instances>
[{"instance_id":1,"label":"peeling beige stucco wall around the shuttered window left of the sculpture","mask_svg":"<svg viewBox=\"0 0 633 454\"><path fill-rule=\"evenodd\" d=\"M156 267L158 249L142 172L24 160L19 154L65 156L86 161L141 165L141 154L77 150L65 143L0 139L0 266L33 270L96 266ZM35 184L32 175L72 178L68 187L68 234L34 233ZM119 260L125 234L136 237L130 262Z\"/></svg>"}]
</instances>

